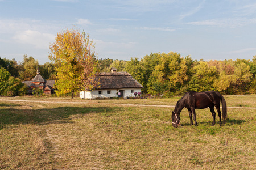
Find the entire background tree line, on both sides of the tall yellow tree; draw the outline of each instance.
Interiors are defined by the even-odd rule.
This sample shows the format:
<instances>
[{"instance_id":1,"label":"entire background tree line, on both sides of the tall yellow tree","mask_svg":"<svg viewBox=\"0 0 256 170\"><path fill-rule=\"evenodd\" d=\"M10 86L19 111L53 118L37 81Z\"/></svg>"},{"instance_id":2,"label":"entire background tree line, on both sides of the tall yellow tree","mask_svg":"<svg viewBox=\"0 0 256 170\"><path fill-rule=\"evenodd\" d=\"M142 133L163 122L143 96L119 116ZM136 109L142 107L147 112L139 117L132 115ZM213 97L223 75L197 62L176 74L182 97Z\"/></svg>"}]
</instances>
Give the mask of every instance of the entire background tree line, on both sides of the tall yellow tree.
<instances>
[{"instance_id":1,"label":"entire background tree line, on both sides of the tall yellow tree","mask_svg":"<svg viewBox=\"0 0 256 170\"><path fill-rule=\"evenodd\" d=\"M170 52L151 53L142 59L133 57L130 61L94 59L98 72L110 72L110 68L115 67L117 71L130 73L144 87L142 95L171 97L187 91L209 90L224 95L256 93L256 56L248 60L197 61ZM50 62L39 65L35 58L27 55L21 62L0 58L0 95L24 95L26 87L22 81L32 80L38 67L45 79L56 80L55 65Z\"/></svg>"}]
</instances>

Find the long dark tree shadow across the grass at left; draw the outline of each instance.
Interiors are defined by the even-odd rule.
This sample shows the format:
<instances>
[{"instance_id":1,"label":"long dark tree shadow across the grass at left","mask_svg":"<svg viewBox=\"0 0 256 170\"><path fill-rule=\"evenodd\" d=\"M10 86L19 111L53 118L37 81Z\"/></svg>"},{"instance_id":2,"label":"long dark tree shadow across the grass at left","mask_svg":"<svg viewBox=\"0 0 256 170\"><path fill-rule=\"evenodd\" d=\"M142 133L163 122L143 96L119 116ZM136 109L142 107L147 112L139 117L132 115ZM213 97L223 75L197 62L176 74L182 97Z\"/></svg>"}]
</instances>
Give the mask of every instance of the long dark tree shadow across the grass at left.
<instances>
[{"instance_id":1,"label":"long dark tree shadow across the grass at left","mask_svg":"<svg viewBox=\"0 0 256 170\"><path fill-rule=\"evenodd\" d=\"M86 116L86 114L102 114L108 116L115 111L119 111L118 107L58 107L53 109L15 109L10 108L20 105L3 105L9 108L0 108L0 129L6 125L18 124L65 124L72 123L71 116Z\"/></svg>"}]
</instances>

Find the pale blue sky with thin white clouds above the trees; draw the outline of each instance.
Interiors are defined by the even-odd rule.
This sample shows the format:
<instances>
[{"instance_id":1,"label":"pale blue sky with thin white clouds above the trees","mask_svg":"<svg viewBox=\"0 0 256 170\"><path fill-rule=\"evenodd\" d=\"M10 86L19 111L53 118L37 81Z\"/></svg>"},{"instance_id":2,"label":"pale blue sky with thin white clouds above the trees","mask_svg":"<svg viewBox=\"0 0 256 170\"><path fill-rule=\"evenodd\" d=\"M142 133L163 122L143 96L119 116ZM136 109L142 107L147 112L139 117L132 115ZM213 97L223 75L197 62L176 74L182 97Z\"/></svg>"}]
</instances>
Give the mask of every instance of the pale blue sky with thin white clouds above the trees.
<instances>
[{"instance_id":1,"label":"pale blue sky with thin white clouds above the trees","mask_svg":"<svg viewBox=\"0 0 256 170\"><path fill-rule=\"evenodd\" d=\"M98 59L256 55L254 0L0 0L0 57L50 62L57 33L75 27L89 34Z\"/></svg>"}]
</instances>

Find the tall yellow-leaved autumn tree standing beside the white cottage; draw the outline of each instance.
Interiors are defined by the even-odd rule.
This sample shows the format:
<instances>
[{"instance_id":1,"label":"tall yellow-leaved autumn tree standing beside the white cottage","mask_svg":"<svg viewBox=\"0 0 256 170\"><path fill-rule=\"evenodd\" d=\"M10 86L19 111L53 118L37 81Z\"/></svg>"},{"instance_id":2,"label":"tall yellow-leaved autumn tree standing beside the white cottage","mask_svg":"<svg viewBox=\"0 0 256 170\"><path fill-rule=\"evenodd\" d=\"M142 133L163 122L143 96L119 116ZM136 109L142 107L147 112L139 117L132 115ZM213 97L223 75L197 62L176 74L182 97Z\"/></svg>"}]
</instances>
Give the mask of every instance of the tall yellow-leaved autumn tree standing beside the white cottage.
<instances>
[{"instance_id":1,"label":"tall yellow-leaved autumn tree standing beside the white cottage","mask_svg":"<svg viewBox=\"0 0 256 170\"><path fill-rule=\"evenodd\" d=\"M75 91L88 91L98 86L94 48L85 32L67 29L57 33L48 56L55 66L57 95L72 92L73 99Z\"/></svg>"}]
</instances>

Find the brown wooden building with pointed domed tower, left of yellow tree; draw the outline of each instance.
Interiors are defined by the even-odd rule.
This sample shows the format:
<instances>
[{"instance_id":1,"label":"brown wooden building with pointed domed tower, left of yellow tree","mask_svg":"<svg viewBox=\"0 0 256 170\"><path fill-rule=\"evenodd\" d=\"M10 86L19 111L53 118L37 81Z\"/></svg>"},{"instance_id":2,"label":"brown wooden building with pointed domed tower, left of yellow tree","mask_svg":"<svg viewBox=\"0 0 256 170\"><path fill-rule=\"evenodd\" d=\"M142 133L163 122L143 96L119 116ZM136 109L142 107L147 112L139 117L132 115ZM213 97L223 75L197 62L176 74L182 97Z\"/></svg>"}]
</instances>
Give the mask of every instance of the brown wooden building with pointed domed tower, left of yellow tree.
<instances>
[{"instance_id":1,"label":"brown wooden building with pointed domed tower, left of yellow tree","mask_svg":"<svg viewBox=\"0 0 256 170\"><path fill-rule=\"evenodd\" d=\"M40 75L39 69L36 71L36 76L31 81L23 81L22 83L28 86L27 94L32 95L34 88L40 88L44 91L44 94L50 95L54 94L55 90L53 89L55 80L46 80Z\"/></svg>"}]
</instances>

